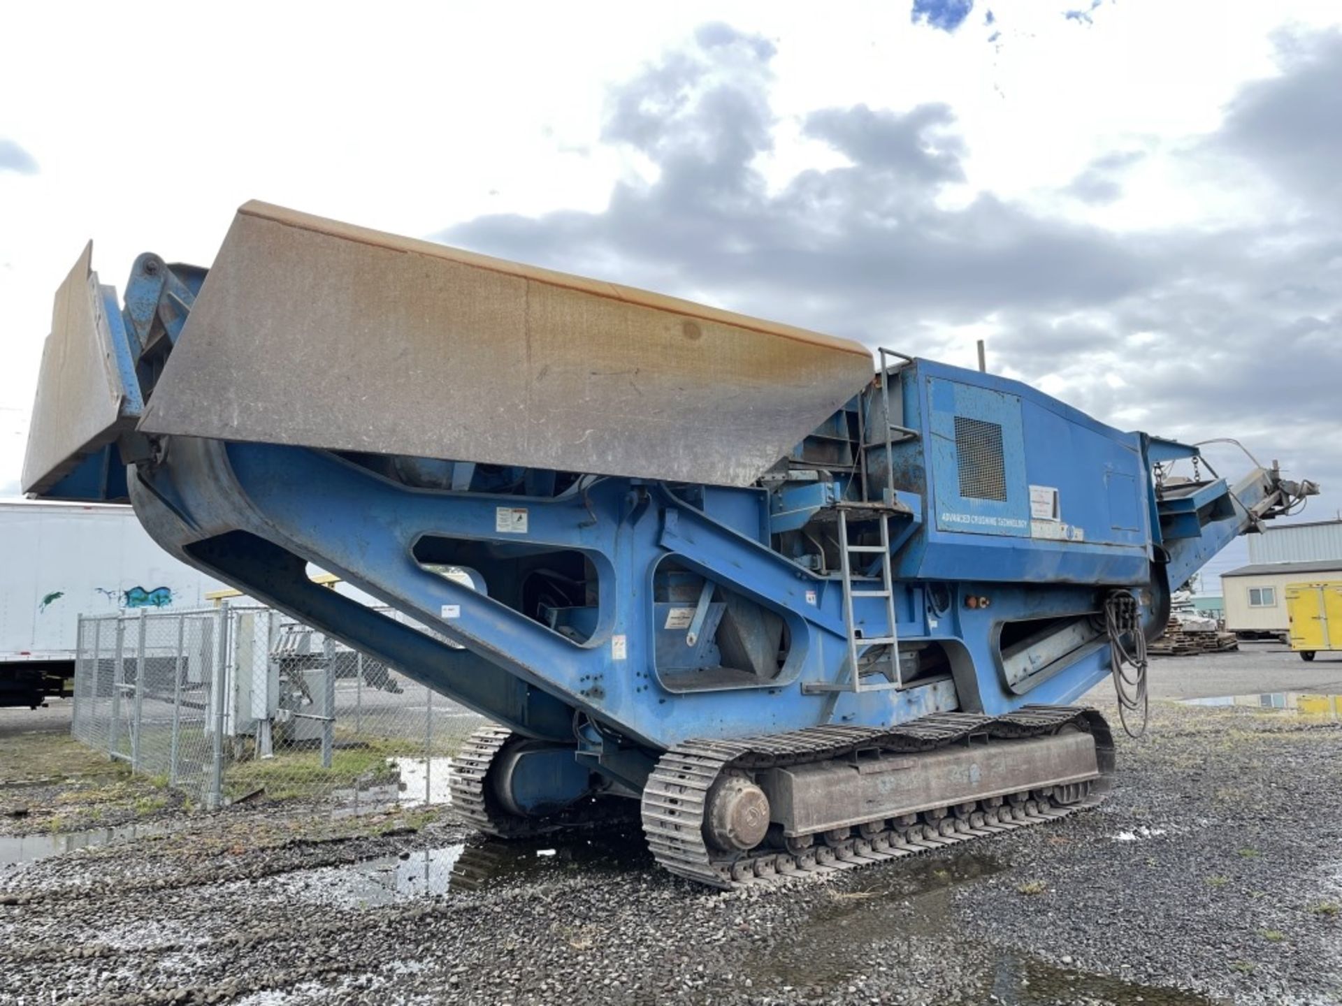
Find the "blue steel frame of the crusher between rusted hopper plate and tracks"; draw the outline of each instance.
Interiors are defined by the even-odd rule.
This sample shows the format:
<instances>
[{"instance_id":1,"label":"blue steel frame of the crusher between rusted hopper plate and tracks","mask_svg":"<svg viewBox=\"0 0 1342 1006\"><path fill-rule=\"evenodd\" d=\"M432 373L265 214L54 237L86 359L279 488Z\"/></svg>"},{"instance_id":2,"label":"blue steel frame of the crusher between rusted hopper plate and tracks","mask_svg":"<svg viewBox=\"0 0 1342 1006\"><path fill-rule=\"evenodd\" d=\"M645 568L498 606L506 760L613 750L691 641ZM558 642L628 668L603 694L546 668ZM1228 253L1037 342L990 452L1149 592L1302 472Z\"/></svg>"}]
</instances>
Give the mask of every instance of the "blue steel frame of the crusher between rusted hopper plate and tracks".
<instances>
[{"instance_id":1,"label":"blue steel frame of the crusher between rusted hopper plate and tracks","mask_svg":"<svg viewBox=\"0 0 1342 1006\"><path fill-rule=\"evenodd\" d=\"M127 424L152 388L152 374L138 369L156 319L162 337L176 342L203 278L201 270L168 267L144 255L132 272L125 307L107 311L119 380L134 392L123 405ZM99 295L114 309L110 287L101 287ZM965 374L926 361L918 365L933 377ZM973 380L1044 400L1015 382L984 374ZM903 421L923 428L917 413L927 404L907 393L905 401ZM1047 401L1067 421L1099 428L1082 413ZM557 498L425 490L310 448L170 437L154 455L142 437L129 435L86 455L47 495L127 492L150 534L184 561L525 736L576 742L593 767L636 790L656 754L688 738L739 738L825 723L875 727L943 710L1001 715L1025 704L1068 704L1087 692L1110 672L1106 641L1082 648L1056 673L1017 693L1001 673L997 626L1094 609L1098 594L1113 586L1135 588L1145 596L1149 624L1161 625L1168 583L1184 582L1245 530L1251 523L1245 508L1268 490L1252 476L1235 491L1216 480L1165 504L1151 484L1151 465L1194 456L1196 448L1110 432L1123 449L1139 455L1149 511L1150 541L1135 555L1129 549L1119 557L1121 575L1113 575L1113 567L1104 571L1103 554L1083 546L1059 554L1057 562L1071 563L1063 577L1070 583L1057 577L1044 578L1051 582L1021 577L1011 582L992 574L978 579L976 569L992 569L994 553L1007 554L1020 543L921 528L930 487L896 494L907 523L896 523L892 551L898 557L913 542L896 569L898 634L910 645L942 644L951 673L905 689L864 692L805 687L839 685L849 677L841 583L836 574L812 573L770 547L770 500L761 490L711 490L738 494L735 512L746 512L745 524L761 528L752 537L742 533L739 519L717 519L659 482L603 478L584 492ZM121 490L122 472L126 490ZM525 537L501 535L498 507L519 506L529 514ZM915 538L918 530L923 534ZM580 551L596 570L595 632L576 642L421 567L413 547L424 535L513 550ZM1083 558L1082 553L1091 554ZM776 679L713 691L666 685L652 659L652 578L667 558L785 621L790 647ZM313 583L307 563L340 574L428 632ZM1138 569L1141 574L1134 575ZM487 578L488 570L483 573ZM927 583L921 577L950 592L946 617L929 616ZM969 596L990 596L992 609L961 604ZM858 626L886 624L884 601L856 598L854 620Z\"/></svg>"}]
</instances>

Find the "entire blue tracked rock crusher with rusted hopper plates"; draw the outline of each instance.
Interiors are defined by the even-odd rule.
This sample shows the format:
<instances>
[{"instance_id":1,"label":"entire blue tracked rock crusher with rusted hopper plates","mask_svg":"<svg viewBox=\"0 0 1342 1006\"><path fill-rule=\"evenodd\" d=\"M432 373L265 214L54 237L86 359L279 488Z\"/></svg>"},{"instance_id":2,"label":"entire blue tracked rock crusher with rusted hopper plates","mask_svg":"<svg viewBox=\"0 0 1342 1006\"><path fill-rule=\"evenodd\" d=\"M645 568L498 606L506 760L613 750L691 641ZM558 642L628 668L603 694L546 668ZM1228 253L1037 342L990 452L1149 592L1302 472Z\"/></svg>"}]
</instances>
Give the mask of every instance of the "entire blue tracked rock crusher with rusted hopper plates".
<instances>
[{"instance_id":1,"label":"entire blue tracked rock crusher with rusted hopper plates","mask_svg":"<svg viewBox=\"0 0 1342 1006\"><path fill-rule=\"evenodd\" d=\"M1110 727L1072 703L1114 675L1139 714L1170 588L1317 491L1170 472L1197 457L992 374L248 203L208 272L146 254L122 299L86 248L23 484L129 499L484 714L452 779L482 830L633 817L730 887L1096 802Z\"/></svg>"}]
</instances>

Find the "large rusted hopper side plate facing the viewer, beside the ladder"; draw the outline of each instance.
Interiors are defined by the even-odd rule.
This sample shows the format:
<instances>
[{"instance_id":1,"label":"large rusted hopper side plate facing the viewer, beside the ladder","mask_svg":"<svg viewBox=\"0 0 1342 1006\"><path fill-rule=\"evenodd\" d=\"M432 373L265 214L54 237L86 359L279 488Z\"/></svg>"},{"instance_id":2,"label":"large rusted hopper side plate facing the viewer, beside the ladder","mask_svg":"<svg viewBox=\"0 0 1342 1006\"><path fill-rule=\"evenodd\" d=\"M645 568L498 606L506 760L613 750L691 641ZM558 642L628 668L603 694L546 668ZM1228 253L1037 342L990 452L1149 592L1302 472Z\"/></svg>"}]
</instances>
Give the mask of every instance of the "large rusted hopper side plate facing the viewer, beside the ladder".
<instances>
[{"instance_id":1,"label":"large rusted hopper side plate facing the viewer, beside the ladder","mask_svg":"<svg viewBox=\"0 0 1342 1006\"><path fill-rule=\"evenodd\" d=\"M847 339L248 203L140 428L746 486L871 376Z\"/></svg>"}]
</instances>

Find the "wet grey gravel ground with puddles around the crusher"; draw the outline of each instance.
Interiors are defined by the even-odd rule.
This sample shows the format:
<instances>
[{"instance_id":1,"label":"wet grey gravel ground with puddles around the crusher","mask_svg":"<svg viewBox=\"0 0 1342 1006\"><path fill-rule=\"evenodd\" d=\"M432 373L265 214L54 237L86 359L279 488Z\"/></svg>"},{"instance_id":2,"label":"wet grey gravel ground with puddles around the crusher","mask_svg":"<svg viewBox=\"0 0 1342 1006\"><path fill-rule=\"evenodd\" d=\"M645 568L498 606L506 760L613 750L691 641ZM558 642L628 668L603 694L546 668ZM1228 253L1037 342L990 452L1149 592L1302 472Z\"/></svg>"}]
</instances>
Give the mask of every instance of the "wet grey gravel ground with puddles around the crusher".
<instances>
[{"instance_id":1,"label":"wet grey gravel ground with puddles around the crusher","mask_svg":"<svg viewBox=\"0 0 1342 1006\"><path fill-rule=\"evenodd\" d=\"M1153 664L1159 695L1284 681L1329 691L1342 663ZM1158 702L1092 813L731 893L660 873L637 834L178 816L0 868L0 1003L1342 1002L1339 755L1342 723Z\"/></svg>"}]
</instances>

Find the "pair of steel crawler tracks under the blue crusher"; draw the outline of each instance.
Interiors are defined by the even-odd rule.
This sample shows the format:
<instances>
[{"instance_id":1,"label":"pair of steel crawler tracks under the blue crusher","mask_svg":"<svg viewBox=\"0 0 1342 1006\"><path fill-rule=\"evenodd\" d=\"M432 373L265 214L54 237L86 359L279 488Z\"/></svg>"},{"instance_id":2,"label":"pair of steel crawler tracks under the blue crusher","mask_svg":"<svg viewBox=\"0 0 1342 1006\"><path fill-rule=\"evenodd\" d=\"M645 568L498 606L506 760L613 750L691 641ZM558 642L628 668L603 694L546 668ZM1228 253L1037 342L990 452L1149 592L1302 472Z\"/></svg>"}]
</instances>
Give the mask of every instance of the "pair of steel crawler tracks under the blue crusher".
<instances>
[{"instance_id":1,"label":"pair of steel crawler tracks under the blue crusher","mask_svg":"<svg viewBox=\"0 0 1342 1006\"><path fill-rule=\"evenodd\" d=\"M584 801L537 820L510 813L497 794L514 738L486 727L454 761L454 803L482 830L589 828L625 809ZM643 830L679 876L719 888L778 883L1066 817L1103 799L1113 767L1108 724L1078 707L687 740L658 761L643 790Z\"/></svg>"}]
</instances>

